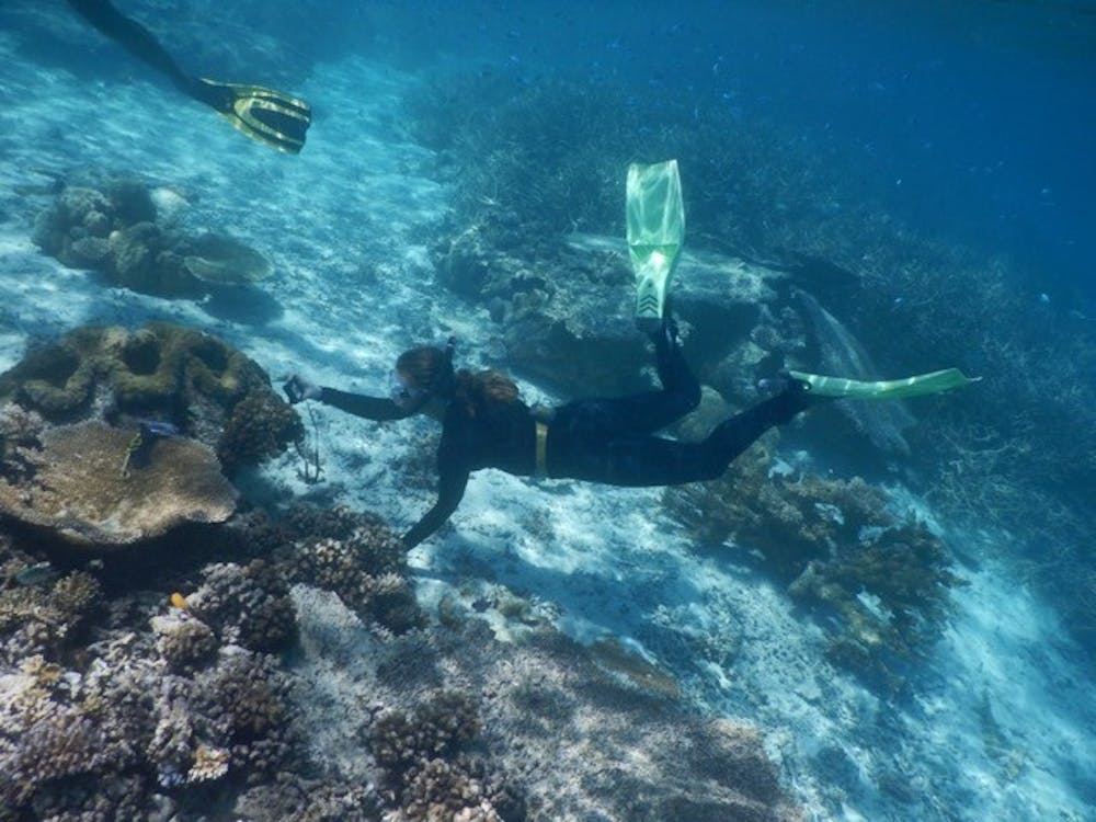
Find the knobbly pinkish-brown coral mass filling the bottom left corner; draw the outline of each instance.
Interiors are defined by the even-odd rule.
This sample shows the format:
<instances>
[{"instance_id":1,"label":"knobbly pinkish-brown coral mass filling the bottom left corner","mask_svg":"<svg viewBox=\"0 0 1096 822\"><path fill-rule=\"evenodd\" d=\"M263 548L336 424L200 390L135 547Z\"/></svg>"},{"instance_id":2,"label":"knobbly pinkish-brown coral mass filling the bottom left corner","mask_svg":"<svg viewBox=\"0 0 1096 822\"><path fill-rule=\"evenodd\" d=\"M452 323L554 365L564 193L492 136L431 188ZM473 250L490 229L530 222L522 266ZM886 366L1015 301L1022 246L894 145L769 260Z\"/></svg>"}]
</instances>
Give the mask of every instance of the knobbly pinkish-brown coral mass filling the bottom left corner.
<instances>
[{"instance_id":1,"label":"knobbly pinkish-brown coral mass filling the bottom left corner","mask_svg":"<svg viewBox=\"0 0 1096 822\"><path fill-rule=\"evenodd\" d=\"M171 631L159 628L162 643ZM217 792L230 797L233 786L301 769L292 681L273 658L237 646L210 653L204 637L199 655L180 666L171 663L182 658L169 655L164 666L151 636L111 631L76 658L79 667L41 655L0 666L7 813L113 820L152 819L165 806L205 811Z\"/></svg>"}]
</instances>

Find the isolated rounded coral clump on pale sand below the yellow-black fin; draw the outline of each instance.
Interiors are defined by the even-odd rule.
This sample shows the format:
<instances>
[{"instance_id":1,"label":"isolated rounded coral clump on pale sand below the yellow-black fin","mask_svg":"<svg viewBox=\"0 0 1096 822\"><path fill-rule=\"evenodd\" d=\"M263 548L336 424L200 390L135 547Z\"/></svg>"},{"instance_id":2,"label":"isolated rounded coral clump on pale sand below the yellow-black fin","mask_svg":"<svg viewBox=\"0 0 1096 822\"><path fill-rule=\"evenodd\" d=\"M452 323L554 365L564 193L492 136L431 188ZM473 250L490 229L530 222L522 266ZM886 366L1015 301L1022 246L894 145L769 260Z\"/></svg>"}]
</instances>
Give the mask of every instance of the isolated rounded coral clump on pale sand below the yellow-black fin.
<instances>
[{"instance_id":1,"label":"isolated rounded coral clump on pale sand below the yellow-black fin","mask_svg":"<svg viewBox=\"0 0 1096 822\"><path fill-rule=\"evenodd\" d=\"M159 225L145 185L113 180L102 190L66 186L39 215L35 243L75 269L102 272L115 284L161 297L195 297L205 283L238 285L270 275L270 263L230 237L186 237Z\"/></svg>"}]
</instances>

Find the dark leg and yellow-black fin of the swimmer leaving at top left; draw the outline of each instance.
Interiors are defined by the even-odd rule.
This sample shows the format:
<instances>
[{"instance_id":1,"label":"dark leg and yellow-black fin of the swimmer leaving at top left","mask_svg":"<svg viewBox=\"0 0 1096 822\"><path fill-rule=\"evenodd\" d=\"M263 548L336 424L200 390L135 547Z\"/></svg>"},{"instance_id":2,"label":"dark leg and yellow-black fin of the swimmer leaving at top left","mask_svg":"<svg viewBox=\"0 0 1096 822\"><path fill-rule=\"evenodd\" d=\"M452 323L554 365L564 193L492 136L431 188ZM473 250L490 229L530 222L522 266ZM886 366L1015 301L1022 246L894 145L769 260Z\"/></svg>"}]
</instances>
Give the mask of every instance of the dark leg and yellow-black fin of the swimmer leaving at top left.
<instances>
[{"instance_id":1,"label":"dark leg and yellow-black fin of the swimmer leaving at top left","mask_svg":"<svg viewBox=\"0 0 1096 822\"><path fill-rule=\"evenodd\" d=\"M205 103L236 128L278 151L296 155L305 146L312 110L304 100L262 85L222 83L186 75L152 33L107 0L68 0L81 16L130 54L164 75L181 92Z\"/></svg>"}]
</instances>

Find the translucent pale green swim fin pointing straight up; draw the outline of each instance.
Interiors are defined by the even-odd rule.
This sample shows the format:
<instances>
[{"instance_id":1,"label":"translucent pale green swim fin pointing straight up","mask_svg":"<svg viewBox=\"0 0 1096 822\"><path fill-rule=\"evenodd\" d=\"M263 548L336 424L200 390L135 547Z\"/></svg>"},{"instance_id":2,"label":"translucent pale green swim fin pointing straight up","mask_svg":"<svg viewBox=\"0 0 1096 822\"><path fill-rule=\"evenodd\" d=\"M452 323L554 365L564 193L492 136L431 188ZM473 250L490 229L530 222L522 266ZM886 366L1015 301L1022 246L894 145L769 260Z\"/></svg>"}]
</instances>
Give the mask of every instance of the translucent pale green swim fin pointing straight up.
<instances>
[{"instance_id":1,"label":"translucent pale green swim fin pointing straight up","mask_svg":"<svg viewBox=\"0 0 1096 822\"><path fill-rule=\"evenodd\" d=\"M666 290L685 240L685 206L677 161L628 167L628 256L636 272L636 324L662 327Z\"/></svg>"}]
</instances>

